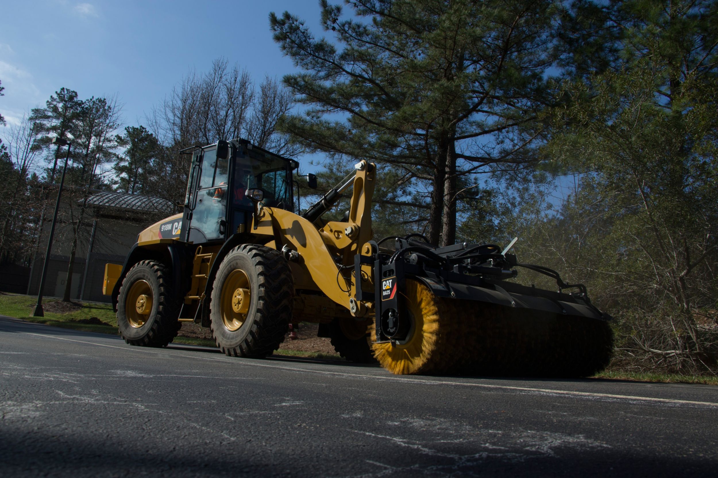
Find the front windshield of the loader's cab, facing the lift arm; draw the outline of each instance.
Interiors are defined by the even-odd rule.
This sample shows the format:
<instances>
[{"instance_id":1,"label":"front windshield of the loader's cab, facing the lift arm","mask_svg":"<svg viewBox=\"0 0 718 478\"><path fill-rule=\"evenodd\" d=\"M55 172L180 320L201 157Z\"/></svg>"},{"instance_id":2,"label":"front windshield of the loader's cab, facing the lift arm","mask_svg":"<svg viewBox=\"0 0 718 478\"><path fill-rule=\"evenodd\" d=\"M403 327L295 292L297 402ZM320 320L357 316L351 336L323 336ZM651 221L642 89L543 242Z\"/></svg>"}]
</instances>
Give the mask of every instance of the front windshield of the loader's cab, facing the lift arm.
<instances>
[{"instance_id":1,"label":"front windshield of the loader's cab, facing the lift arm","mask_svg":"<svg viewBox=\"0 0 718 478\"><path fill-rule=\"evenodd\" d=\"M276 156L238 158L234 188L235 206L251 206L252 202L245 197L246 190L261 188L264 191L266 206L292 208L289 165L286 160Z\"/></svg>"}]
</instances>

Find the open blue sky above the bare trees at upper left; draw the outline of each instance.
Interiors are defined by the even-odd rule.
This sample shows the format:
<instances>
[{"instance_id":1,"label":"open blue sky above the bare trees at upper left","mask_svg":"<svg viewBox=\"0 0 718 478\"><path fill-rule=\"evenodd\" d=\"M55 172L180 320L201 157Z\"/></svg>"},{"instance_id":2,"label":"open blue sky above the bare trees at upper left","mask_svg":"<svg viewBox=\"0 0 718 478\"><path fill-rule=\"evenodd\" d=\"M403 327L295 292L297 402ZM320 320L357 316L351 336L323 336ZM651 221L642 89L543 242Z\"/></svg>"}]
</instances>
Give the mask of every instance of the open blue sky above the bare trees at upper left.
<instances>
[{"instance_id":1,"label":"open blue sky above the bare trees at upper left","mask_svg":"<svg viewBox=\"0 0 718 478\"><path fill-rule=\"evenodd\" d=\"M0 9L0 114L8 123L60 87L80 98L118 95L126 125L213 59L246 67L257 82L294 71L271 38L269 12L289 10L321 36L318 0L25 0ZM2 132L0 131L0 135Z\"/></svg>"}]
</instances>

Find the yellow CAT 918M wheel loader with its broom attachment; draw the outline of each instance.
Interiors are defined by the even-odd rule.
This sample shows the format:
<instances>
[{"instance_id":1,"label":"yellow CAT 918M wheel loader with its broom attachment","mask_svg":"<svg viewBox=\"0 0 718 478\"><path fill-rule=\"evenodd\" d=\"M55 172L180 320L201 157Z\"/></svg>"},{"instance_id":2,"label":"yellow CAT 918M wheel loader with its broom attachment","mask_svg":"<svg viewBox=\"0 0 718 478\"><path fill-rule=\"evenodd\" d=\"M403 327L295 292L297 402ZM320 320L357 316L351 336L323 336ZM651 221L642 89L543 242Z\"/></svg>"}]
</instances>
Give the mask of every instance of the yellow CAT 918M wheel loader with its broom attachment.
<instances>
[{"instance_id":1,"label":"yellow CAT 918M wheel loader with its broom attachment","mask_svg":"<svg viewBox=\"0 0 718 478\"><path fill-rule=\"evenodd\" d=\"M611 317L583 285L519 263L513 242L373 241L373 163L295 214L296 161L246 140L182 153L192 155L182 214L142 231L122 267L106 266L103 292L131 345L162 347L192 321L225 354L264 357L304 321L348 360L393 373L589 376L610 360ZM342 195L342 221L323 219ZM507 280L518 267L558 291Z\"/></svg>"}]
</instances>

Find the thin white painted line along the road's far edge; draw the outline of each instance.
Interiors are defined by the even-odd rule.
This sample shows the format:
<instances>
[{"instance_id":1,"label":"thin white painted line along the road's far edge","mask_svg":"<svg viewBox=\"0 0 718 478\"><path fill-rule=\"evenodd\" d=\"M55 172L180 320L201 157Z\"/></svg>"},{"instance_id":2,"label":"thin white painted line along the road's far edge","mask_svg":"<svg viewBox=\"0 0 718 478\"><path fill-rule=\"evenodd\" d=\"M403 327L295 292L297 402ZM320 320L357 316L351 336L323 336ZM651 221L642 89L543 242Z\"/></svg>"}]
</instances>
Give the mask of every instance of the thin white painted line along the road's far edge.
<instances>
[{"instance_id":1,"label":"thin white painted line along the road's far edge","mask_svg":"<svg viewBox=\"0 0 718 478\"><path fill-rule=\"evenodd\" d=\"M122 346L118 346L118 345L106 345L106 344L102 344L102 343L88 342L86 340L76 340L76 339L71 339L71 338L55 337L53 335L45 335L45 334L32 333L32 332L22 332L22 333L27 334L27 335L38 335L39 337L45 337L45 338L54 338L57 340L67 340L70 342L85 343L85 344L89 344L89 345L98 345L100 347L118 348L120 350L126 350L126 351L131 351L131 352L144 352L144 353L156 353L156 354L162 353L162 351L160 351L160 350L149 350L146 348L131 348L131 349L129 349L127 347L122 347ZM343 377L350 377L350 378L373 378L375 380L392 381L392 382L421 383L421 384L429 384L429 385L455 385L455 386L490 388L490 389L495 389L495 390L521 391L524 393L533 392L533 393L541 393L541 394L549 394L549 395L577 396L577 397L585 397L585 398L614 398L614 399L628 400L628 401L649 401L649 402L654 402L654 403L675 403L677 405L699 405L699 406L718 407L718 403L707 402L707 401L677 400L674 398L654 398L654 397L633 396L633 395L618 395L615 393L594 393L594 392L579 392L579 391L568 391L568 390L554 390L552 388L519 387L519 386L510 386L510 385L496 385L493 383L467 383L467 382L454 382L454 381L440 381L440 380L432 380L429 378L404 378L404 377L399 377L399 376L381 377L381 376L368 375L365 373L320 371L320 370L311 370L311 369L307 369L307 368L296 368L296 367L287 367L287 366L281 366L281 365L270 365L268 363L247 363L246 361L243 361L243 360L215 358L215 357L202 357L200 355L182 355L182 354L173 354L173 355L178 355L180 357L186 357L186 358L192 358L195 360L197 360L197 359L212 360L215 362L234 363L236 365L276 368L279 370L286 370L286 371L293 371L293 372L322 373L325 375L343 376Z\"/></svg>"}]
</instances>

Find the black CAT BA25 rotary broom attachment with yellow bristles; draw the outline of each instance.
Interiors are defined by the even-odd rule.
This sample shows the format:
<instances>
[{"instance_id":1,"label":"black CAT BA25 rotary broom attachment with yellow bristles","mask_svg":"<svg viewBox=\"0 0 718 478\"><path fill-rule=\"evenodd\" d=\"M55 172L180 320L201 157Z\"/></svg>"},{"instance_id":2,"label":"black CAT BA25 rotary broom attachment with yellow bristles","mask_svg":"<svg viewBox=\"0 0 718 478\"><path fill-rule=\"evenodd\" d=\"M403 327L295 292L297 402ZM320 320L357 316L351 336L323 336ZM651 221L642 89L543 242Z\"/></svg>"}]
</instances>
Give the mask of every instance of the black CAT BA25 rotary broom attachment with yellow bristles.
<instances>
[{"instance_id":1,"label":"black CAT BA25 rotary broom attachment with yellow bristles","mask_svg":"<svg viewBox=\"0 0 718 478\"><path fill-rule=\"evenodd\" d=\"M379 244L395 239L394 252ZM435 247L419 234L373 243L373 350L393 373L590 376L610 361L610 315L586 287L521 264L495 244ZM558 292L505 279L514 267L546 274ZM566 293L564 290L577 289Z\"/></svg>"}]
</instances>

